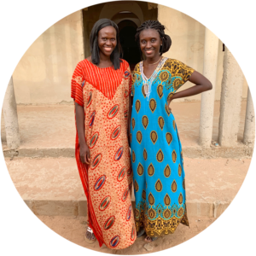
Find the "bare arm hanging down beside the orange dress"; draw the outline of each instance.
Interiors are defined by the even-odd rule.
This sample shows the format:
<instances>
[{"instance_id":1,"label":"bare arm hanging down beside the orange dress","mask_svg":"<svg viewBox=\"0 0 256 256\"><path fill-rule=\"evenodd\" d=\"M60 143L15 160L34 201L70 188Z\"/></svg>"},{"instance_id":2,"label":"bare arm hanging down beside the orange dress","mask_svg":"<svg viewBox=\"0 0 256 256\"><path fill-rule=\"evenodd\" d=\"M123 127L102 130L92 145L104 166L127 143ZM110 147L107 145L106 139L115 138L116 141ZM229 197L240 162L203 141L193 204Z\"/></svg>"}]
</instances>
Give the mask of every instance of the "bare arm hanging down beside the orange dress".
<instances>
[{"instance_id":1,"label":"bare arm hanging down beside the orange dress","mask_svg":"<svg viewBox=\"0 0 256 256\"><path fill-rule=\"evenodd\" d=\"M82 163L90 164L90 151L85 142L84 136L84 107L75 102L76 108L76 124L79 135L80 159Z\"/></svg>"}]
</instances>

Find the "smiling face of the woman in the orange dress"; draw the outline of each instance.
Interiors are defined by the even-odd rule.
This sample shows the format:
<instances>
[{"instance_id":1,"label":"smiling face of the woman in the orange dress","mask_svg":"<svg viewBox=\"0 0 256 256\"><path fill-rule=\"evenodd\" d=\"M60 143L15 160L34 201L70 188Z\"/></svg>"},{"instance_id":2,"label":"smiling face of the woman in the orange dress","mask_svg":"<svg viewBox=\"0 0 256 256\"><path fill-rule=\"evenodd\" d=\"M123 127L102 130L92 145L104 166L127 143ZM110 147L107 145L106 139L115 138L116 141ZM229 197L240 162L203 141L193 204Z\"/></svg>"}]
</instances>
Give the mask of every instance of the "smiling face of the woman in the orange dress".
<instances>
[{"instance_id":1,"label":"smiling face of the woman in the orange dress","mask_svg":"<svg viewBox=\"0 0 256 256\"><path fill-rule=\"evenodd\" d=\"M105 26L98 32L98 46L103 55L110 56L116 44L116 31L113 26Z\"/></svg>"}]
</instances>

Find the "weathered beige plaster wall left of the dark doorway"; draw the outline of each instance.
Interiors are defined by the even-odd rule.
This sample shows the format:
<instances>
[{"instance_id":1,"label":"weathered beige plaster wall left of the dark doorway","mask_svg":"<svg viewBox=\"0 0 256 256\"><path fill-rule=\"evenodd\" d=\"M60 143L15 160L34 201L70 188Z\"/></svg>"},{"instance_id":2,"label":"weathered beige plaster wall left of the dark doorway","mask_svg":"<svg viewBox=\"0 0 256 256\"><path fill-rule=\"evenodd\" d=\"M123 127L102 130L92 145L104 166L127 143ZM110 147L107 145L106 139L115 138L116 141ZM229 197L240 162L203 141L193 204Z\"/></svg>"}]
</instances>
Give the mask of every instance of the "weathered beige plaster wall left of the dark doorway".
<instances>
[{"instance_id":1,"label":"weathered beige plaster wall left of the dark doorway","mask_svg":"<svg viewBox=\"0 0 256 256\"><path fill-rule=\"evenodd\" d=\"M71 102L70 82L84 59L81 10L56 20L20 56L12 73L17 103Z\"/></svg>"}]
</instances>

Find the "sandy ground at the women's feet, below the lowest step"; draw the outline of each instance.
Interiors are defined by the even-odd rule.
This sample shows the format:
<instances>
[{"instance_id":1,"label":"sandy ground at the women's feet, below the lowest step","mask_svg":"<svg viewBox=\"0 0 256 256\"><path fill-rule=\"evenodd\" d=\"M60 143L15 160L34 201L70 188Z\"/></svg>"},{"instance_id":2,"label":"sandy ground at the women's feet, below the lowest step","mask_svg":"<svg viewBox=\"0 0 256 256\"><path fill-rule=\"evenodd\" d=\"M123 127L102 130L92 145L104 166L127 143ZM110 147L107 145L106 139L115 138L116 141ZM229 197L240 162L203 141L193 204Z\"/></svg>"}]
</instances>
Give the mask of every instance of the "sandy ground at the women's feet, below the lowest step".
<instances>
[{"instance_id":1,"label":"sandy ground at the women's feet, below the lowest step","mask_svg":"<svg viewBox=\"0 0 256 256\"><path fill-rule=\"evenodd\" d=\"M38 220L44 224L49 230L54 232L57 236L60 236L66 241L73 243L75 246L85 248L87 250L96 253L105 253L108 255L148 255L151 253L161 253L170 250L174 247L183 245L185 242L194 239L196 236L201 235L202 232L207 230L218 220L218 218L189 218L189 227L180 224L174 234L163 236L152 241L150 245L153 247L152 251L147 251L144 245L147 243L144 241L144 237L139 237L131 245L122 250L112 250L103 245L99 247L98 242L88 244L84 240L84 233L86 230L86 217L64 217L64 216L35 216ZM207 236L203 234L202 236Z\"/></svg>"}]
</instances>

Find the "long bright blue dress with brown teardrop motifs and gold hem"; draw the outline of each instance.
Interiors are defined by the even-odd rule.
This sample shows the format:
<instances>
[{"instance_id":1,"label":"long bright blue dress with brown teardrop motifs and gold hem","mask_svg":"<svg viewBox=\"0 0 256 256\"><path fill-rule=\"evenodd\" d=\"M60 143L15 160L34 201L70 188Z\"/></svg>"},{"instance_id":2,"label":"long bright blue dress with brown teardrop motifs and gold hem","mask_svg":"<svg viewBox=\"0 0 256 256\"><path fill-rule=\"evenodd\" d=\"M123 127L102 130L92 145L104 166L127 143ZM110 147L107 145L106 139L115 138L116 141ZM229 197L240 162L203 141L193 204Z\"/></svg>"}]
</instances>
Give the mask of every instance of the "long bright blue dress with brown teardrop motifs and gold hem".
<instances>
[{"instance_id":1,"label":"long bright blue dress with brown teardrop motifs and gold hem","mask_svg":"<svg viewBox=\"0 0 256 256\"><path fill-rule=\"evenodd\" d=\"M143 227L147 236L172 234L179 223L189 225L182 146L167 101L193 72L166 58L147 99L139 63L134 69L130 141L135 221L137 231Z\"/></svg>"}]
</instances>

